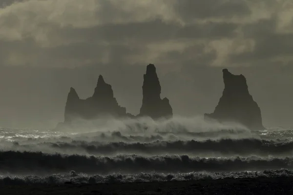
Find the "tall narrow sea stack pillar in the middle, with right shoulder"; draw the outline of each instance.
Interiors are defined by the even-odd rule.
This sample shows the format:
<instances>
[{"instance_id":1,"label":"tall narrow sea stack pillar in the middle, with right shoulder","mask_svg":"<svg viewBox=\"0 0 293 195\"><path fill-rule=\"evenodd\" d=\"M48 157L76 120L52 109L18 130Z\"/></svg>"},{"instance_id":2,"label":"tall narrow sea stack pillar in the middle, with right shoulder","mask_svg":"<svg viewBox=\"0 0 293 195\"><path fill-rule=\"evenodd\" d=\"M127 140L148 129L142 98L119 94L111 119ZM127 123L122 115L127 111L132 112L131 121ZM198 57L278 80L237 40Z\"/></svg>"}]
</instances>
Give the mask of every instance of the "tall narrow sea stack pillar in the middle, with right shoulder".
<instances>
[{"instance_id":1,"label":"tall narrow sea stack pillar in the middle, with right shoulder","mask_svg":"<svg viewBox=\"0 0 293 195\"><path fill-rule=\"evenodd\" d=\"M143 104L138 117L148 116L153 119L173 116L168 98L161 99L161 85L156 73L156 67L148 64L143 83Z\"/></svg>"}]
</instances>

